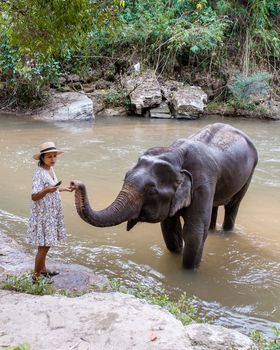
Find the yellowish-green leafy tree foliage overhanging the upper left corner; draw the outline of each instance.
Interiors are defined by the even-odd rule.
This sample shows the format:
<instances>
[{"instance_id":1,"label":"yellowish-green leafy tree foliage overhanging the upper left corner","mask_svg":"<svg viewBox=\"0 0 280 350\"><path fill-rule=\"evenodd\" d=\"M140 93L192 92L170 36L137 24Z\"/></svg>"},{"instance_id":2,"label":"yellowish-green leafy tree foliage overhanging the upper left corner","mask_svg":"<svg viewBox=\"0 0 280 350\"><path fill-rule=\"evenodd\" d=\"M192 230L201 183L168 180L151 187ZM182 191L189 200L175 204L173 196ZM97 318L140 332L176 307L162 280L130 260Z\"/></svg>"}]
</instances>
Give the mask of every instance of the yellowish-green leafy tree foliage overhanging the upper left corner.
<instances>
[{"instance_id":1,"label":"yellowish-green leafy tree foliage overhanging the upper left corner","mask_svg":"<svg viewBox=\"0 0 280 350\"><path fill-rule=\"evenodd\" d=\"M88 59L73 56L88 54L100 31L110 33L123 6L120 0L0 0L0 98L6 106L41 105L67 62L74 61L78 73L88 70Z\"/></svg>"}]
</instances>

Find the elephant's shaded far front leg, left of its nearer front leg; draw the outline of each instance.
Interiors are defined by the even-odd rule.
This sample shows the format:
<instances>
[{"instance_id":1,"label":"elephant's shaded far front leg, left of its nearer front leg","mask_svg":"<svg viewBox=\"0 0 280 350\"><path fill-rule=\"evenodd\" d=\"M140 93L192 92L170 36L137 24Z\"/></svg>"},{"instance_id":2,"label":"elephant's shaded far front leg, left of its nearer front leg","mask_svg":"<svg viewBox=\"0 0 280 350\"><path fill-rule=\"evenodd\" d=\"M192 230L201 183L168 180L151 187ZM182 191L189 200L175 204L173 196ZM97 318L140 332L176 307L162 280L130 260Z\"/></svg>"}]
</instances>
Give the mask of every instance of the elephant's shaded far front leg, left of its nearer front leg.
<instances>
[{"instance_id":1,"label":"elephant's shaded far front leg, left of its nearer front leg","mask_svg":"<svg viewBox=\"0 0 280 350\"><path fill-rule=\"evenodd\" d=\"M160 223L166 247L173 253L181 253L183 249L183 235L180 216L175 215Z\"/></svg>"}]
</instances>

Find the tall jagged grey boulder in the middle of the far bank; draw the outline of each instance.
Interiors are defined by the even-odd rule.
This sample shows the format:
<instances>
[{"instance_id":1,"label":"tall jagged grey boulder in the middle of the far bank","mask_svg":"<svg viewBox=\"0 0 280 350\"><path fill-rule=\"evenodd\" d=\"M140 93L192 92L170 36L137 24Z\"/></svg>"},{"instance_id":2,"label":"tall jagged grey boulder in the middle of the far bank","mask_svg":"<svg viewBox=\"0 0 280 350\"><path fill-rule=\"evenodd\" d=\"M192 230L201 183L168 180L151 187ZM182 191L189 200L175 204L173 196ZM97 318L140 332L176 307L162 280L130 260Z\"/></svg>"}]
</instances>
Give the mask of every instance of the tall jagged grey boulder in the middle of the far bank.
<instances>
[{"instance_id":1,"label":"tall jagged grey boulder in the middle of the far bank","mask_svg":"<svg viewBox=\"0 0 280 350\"><path fill-rule=\"evenodd\" d=\"M127 76L123 85L130 96L132 110L137 115L143 114L143 109L157 107L162 101L160 85L153 71Z\"/></svg>"}]
</instances>

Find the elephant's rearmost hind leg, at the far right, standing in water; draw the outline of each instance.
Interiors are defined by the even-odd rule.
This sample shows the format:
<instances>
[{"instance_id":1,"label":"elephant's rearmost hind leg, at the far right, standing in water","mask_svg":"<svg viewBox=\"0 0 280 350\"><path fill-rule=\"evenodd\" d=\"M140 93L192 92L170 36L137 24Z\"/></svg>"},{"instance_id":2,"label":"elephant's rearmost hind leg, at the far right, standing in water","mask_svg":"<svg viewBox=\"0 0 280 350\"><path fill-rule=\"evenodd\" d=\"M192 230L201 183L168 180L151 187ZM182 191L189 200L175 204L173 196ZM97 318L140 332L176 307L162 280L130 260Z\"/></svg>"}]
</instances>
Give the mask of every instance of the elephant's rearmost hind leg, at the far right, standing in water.
<instances>
[{"instance_id":1,"label":"elephant's rearmost hind leg, at the far right, standing in water","mask_svg":"<svg viewBox=\"0 0 280 350\"><path fill-rule=\"evenodd\" d=\"M235 224L235 219L238 213L239 205L241 203L241 200L245 196L245 193L248 190L250 182L251 182L251 177L248 179L246 184L241 188L241 190L233 196L232 200L227 205L225 205L225 217L223 222L223 229L225 231L230 231L233 229Z\"/></svg>"}]
</instances>

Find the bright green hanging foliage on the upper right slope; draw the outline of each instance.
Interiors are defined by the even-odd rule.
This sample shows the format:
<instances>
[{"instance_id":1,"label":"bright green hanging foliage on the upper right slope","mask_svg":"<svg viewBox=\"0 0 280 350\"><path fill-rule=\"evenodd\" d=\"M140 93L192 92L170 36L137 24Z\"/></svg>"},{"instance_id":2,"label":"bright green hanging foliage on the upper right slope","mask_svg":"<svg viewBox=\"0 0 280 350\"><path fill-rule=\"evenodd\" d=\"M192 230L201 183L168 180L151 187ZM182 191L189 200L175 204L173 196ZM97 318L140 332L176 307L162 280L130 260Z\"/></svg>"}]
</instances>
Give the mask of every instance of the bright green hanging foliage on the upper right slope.
<instances>
[{"instance_id":1,"label":"bright green hanging foliage on the upper right slope","mask_svg":"<svg viewBox=\"0 0 280 350\"><path fill-rule=\"evenodd\" d=\"M280 60L280 31L273 25L279 7L277 0L130 0L114 42L105 39L103 48L113 47L112 54L130 48L132 57L137 52L159 72L172 72L182 57L213 67L239 56L249 73L254 63Z\"/></svg>"}]
</instances>

